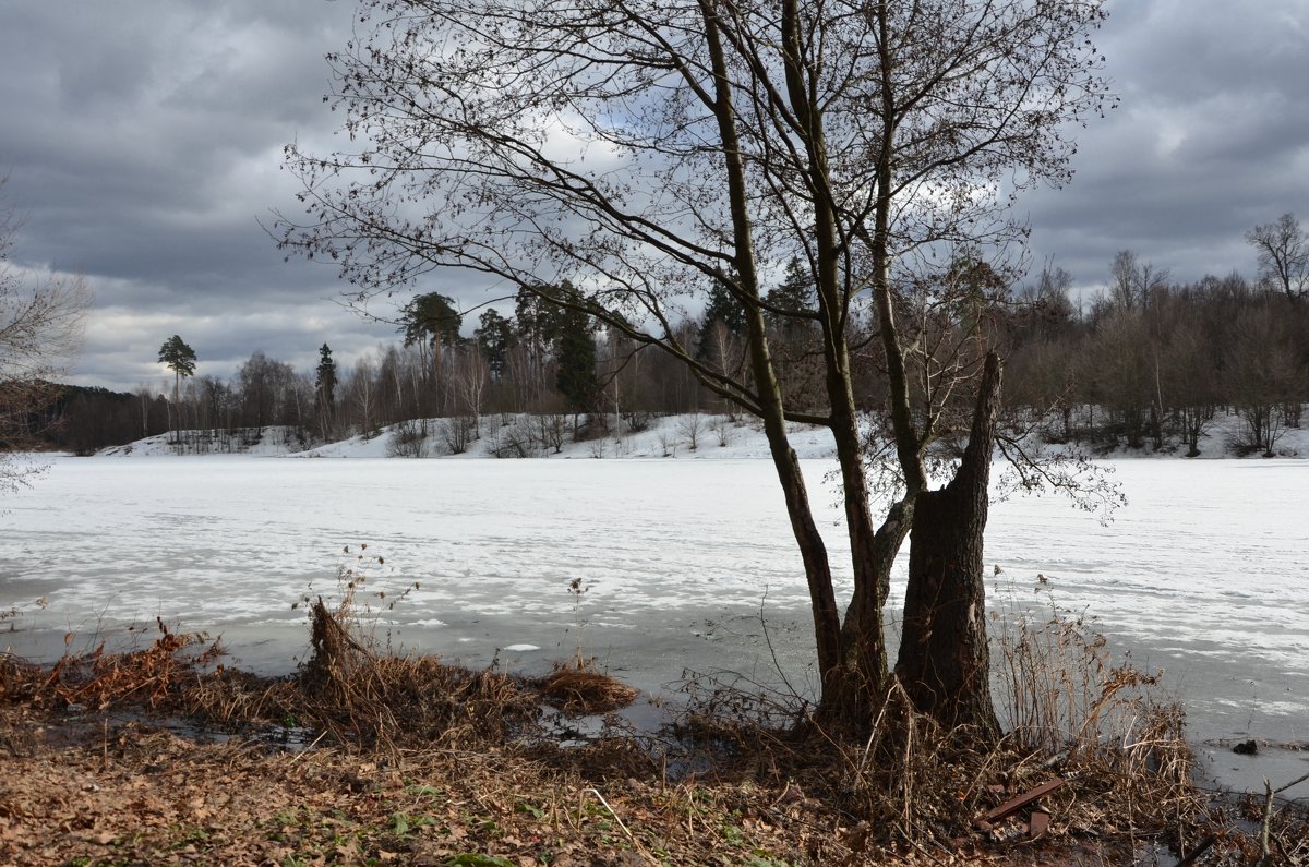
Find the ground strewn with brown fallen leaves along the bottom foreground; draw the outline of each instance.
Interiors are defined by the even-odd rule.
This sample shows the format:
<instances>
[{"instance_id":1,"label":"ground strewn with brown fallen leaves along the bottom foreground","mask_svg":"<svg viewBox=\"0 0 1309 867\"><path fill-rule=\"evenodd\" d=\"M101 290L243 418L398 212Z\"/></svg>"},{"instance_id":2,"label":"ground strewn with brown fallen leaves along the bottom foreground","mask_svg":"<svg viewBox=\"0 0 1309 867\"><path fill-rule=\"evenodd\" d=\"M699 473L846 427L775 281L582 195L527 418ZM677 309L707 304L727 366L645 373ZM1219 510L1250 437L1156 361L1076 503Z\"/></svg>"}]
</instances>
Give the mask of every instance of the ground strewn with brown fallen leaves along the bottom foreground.
<instances>
[{"instance_id":1,"label":"ground strewn with brown fallen leaves along the bottom foreground","mask_svg":"<svg viewBox=\"0 0 1309 867\"><path fill-rule=\"evenodd\" d=\"M585 749L511 745L270 752L136 722L64 739L16 705L0 718L25 732L0 750L0 863L1127 863L1105 841L878 846L809 777L596 777L571 764Z\"/></svg>"}]
</instances>

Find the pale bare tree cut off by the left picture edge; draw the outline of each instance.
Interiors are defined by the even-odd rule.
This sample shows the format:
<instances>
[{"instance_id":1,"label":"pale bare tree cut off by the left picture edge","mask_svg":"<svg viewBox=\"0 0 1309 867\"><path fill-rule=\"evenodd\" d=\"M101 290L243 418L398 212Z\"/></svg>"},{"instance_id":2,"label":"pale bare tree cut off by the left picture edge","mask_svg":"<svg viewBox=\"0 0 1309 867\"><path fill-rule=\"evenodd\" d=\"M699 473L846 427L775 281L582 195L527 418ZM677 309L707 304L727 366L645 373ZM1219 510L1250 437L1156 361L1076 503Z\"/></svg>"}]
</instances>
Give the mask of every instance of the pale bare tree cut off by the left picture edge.
<instances>
[{"instance_id":1,"label":"pale bare tree cut off by the left picture edge","mask_svg":"<svg viewBox=\"0 0 1309 867\"><path fill-rule=\"evenodd\" d=\"M0 179L0 187L4 181ZM81 276L35 274L9 259L21 220L0 208L0 491L12 491L41 470L20 464L13 451L35 441L54 419L59 397L52 380L81 348L90 291Z\"/></svg>"}]
</instances>

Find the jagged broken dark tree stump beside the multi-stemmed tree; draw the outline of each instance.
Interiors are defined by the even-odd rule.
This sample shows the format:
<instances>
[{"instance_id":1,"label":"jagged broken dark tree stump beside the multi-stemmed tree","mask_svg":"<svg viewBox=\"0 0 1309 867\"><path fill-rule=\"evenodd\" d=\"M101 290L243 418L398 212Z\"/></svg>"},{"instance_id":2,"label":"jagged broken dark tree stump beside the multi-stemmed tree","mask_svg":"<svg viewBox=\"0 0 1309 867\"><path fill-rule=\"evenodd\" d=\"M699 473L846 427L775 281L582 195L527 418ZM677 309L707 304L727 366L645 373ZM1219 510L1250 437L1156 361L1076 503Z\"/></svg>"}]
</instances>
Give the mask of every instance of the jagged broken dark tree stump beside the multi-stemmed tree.
<instances>
[{"instance_id":1,"label":"jagged broken dark tree stump beside the multi-stemmed tree","mask_svg":"<svg viewBox=\"0 0 1309 867\"><path fill-rule=\"evenodd\" d=\"M908 549L905 630L895 674L941 724L1000 732L991 701L982 537L1000 402L1000 359L986 358L963 462L944 489L918 495Z\"/></svg>"}]
</instances>

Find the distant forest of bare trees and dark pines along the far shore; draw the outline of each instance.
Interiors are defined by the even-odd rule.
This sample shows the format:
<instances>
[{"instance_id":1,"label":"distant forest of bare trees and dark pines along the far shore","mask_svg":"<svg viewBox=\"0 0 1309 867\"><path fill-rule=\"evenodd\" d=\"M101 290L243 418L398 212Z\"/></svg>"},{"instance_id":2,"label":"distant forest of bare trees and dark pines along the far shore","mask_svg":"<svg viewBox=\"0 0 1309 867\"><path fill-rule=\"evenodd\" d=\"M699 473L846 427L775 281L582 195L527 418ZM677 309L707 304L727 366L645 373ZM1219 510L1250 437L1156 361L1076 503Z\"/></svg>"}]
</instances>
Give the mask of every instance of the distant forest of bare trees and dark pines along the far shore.
<instances>
[{"instance_id":1,"label":"distant forest of bare trees and dark pines along the far shore","mask_svg":"<svg viewBox=\"0 0 1309 867\"><path fill-rule=\"evenodd\" d=\"M1241 439L1228 445L1272 454L1279 436L1301 424L1309 402L1302 287L1251 284L1236 272L1181 284L1123 251L1107 289L1079 309L1060 268L1017 288L984 263L956 271L973 291L952 292L950 310L936 309L929 292L905 293L902 316L923 346L916 380L924 393L950 359L967 355L959 344L984 339L1007 358L1005 423L1035 427L1047 441L1196 454L1215 419L1237 414ZM317 369L305 372L260 351L230 381L181 372L175 399L144 386L130 394L59 389L30 427L46 448L89 454L168 431L191 431L177 437L179 451L221 452L258 441L270 427L310 447L404 423L393 432L395 453L406 444L427 453L428 440L432 451L466 449L484 416L497 415L531 419L517 422L507 447L531 454L564 437L641 430L656 414L732 410L686 365L600 329L568 284L551 292L563 305L524 292L512 316L486 309L471 329L450 299L419 295L403 309L397 342L348 369L338 371L327 344ZM792 263L766 301L797 310L809 296L804 268ZM970 306L961 312L961 304ZM817 329L776 320L770 342L783 361L788 405L821 410ZM864 347L857 399L876 426L885 393L881 343L868 321L850 329ZM725 292L712 292L704 314L683 321L677 335L711 367L746 367L742 313Z\"/></svg>"}]
</instances>

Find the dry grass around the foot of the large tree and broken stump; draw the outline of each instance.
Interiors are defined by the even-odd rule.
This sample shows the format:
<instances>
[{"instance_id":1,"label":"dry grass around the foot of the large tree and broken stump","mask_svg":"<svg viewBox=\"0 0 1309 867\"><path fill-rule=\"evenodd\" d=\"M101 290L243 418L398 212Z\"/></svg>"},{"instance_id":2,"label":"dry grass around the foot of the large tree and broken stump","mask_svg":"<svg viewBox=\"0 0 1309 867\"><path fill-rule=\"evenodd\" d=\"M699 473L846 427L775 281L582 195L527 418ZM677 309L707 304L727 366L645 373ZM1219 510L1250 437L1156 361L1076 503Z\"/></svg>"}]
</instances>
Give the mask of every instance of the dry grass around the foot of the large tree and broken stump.
<instances>
[{"instance_id":1,"label":"dry grass around the foot of the large tree and broken stump","mask_svg":"<svg viewBox=\"0 0 1309 867\"><path fill-rule=\"evenodd\" d=\"M812 719L779 728L776 720L797 710L787 695L741 694L723 684L709 684L692 702L682 731L706 745L716 773L838 805L848 832L833 843L842 858L895 851L946 859L970 847L1049 858L1055 846L1069 858L1089 847L1106 858L1100 863L1121 863L1149 843L1177 858L1203 846L1207 854L1194 863L1254 863L1255 841L1192 782L1185 712L1162 692L1158 673L1113 660L1103 636L1054 608L1039 622L1011 618L996 631L994 693L1013 720L999 744L919 714L894 678L859 740ZM1038 802L990 826L978 822L1049 783L1058 787ZM1039 841L1029 826L1034 811L1050 816ZM1297 839L1288 829L1302 828L1302 817L1283 809L1275 820L1275 836ZM1302 854L1270 863L1296 858Z\"/></svg>"}]
</instances>

